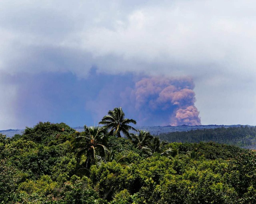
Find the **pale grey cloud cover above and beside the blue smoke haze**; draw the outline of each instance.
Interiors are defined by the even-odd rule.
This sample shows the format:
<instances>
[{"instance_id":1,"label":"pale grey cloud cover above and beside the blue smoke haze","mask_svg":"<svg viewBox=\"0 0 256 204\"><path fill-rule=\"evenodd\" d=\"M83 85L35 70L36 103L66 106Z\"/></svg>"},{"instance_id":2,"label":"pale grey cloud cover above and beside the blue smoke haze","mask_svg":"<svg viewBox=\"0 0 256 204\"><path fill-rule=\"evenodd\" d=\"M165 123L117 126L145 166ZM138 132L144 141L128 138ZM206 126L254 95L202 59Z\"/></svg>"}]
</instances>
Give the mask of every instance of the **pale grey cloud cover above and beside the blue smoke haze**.
<instances>
[{"instance_id":1,"label":"pale grey cloud cover above and beside the blue smoke haze","mask_svg":"<svg viewBox=\"0 0 256 204\"><path fill-rule=\"evenodd\" d=\"M98 73L190 76L202 123L256 124L255 12L252 0L4 0L0 72L86 78L95 65ZM3 114L14 112L17 90L1 82ZM160 100L170 98L163 93Z\"/></svg>"}]
</instances>

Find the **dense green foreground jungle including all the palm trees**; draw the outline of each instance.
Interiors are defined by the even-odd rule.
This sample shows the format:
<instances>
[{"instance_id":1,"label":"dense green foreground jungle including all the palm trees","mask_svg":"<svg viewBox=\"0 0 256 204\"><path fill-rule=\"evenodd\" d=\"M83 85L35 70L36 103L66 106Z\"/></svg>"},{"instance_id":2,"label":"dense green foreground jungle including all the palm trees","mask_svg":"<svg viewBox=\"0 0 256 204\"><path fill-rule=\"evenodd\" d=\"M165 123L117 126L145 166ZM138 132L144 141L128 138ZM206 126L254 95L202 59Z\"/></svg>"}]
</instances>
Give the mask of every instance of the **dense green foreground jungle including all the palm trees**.
<instances>
[{"instance_id":1,"label":"dense green foreground jungle including all the palm trees","mask_svg":"<svg viewBox=\"0 0 256 204\"><path fill-rule=\"evenodd\" d=\"M0 203L255 203L255 151L129 133L136 121L121 108L100 124L76 132L40 122L0 134Z\"/></svg>"}]
</instances>

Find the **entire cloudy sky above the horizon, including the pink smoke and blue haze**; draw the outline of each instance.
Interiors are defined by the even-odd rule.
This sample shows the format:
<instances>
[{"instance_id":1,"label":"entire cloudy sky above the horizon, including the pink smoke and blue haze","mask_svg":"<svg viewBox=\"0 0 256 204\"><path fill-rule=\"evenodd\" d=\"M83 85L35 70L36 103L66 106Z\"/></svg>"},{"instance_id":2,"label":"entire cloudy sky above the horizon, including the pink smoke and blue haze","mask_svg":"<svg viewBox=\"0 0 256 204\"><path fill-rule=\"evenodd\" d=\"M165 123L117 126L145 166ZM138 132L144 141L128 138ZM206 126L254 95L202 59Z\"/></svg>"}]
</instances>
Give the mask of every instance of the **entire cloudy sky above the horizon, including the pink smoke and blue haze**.
<instances>
[{"instance_id":1,"label":"entire cloudy sky above the horizon, including the pink smoke and blue haze","mask_svg":"<svg viewBox=\"0 0 256 204\"><path fill-rule=\"evenodd\" d=\"M0 129L256 125L253 0L1 0Z\"/></svg>"}]
</instances>

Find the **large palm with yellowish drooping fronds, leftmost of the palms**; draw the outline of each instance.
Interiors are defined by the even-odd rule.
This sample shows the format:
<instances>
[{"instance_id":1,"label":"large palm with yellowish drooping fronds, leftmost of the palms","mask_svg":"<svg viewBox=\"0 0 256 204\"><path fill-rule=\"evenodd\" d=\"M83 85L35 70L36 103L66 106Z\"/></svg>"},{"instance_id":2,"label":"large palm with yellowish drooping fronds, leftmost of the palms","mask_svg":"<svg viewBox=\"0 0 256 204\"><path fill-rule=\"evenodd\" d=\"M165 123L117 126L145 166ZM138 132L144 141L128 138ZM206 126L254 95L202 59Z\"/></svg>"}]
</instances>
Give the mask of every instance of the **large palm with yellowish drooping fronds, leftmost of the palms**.
<instances>
[{"instance_id":1,"label":"large palm with yellowish drooping fronds, leftmost of the palms","mask_svg":"<svg viewBox=\"0 0 256 204\"><path fill-rule=\"evenodd\" d=\"M108 149L106 148L106 129L104 127L84 126L84 132L76 133L72 144L73 149L78 151L78 157L86 155L86 169L95 163L97 156L105 157Z\"/></svg>"}]
</instances>

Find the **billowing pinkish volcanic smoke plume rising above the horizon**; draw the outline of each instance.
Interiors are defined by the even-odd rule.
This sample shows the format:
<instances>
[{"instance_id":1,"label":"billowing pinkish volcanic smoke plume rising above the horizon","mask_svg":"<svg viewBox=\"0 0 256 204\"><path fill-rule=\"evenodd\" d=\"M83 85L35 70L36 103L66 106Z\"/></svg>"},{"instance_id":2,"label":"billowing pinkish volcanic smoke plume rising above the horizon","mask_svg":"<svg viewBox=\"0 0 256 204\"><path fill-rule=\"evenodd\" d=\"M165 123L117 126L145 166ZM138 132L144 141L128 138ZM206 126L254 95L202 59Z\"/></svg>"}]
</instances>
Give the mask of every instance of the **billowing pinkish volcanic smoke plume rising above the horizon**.
<instances>
[{"instance_id":1,"label":"billowing pinkish volcanic smoke plume rising above the horizon","mask_svg":"<svg viewBox=\"0 0 256 204\"><path fill-rule=\"evenodd\" d=\"M132 96L144 124L200 125L191 78L143 78Z\"/></svg>"}]
</instances>

